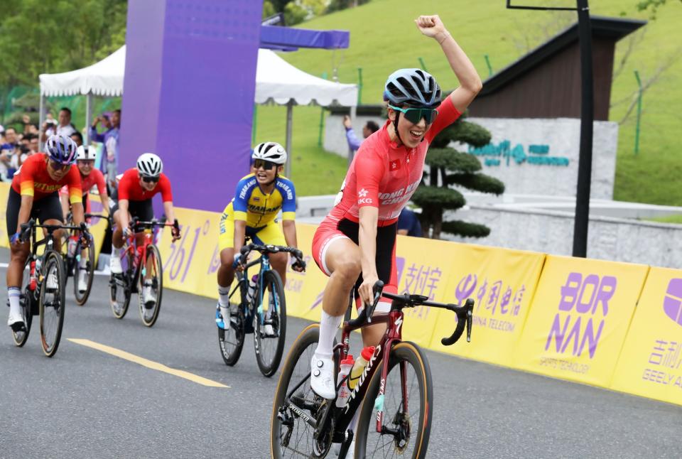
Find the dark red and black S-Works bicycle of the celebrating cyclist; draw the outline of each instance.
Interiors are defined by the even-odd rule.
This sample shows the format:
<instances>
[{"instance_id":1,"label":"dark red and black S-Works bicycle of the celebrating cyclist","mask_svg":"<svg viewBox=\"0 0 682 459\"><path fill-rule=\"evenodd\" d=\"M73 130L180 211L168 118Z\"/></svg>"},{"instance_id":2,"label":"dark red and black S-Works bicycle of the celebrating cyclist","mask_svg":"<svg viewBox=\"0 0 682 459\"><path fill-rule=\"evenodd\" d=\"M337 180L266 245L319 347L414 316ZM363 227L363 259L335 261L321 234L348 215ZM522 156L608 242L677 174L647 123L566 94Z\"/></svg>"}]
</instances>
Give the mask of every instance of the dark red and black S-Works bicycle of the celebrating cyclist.
<instances>
[{"instance_id":1,"label":"dark red and black S-Works bicycle of the celebrating cyclist","mask_svg":"<svg viewBox=\"0 0 682 459\"><path fill-rule=\"evenodd\" d=\"M339 365L348 356L350 333L377 323L386 333L369 358L347 398L323 399L310 388L310 360L319 338L319 325L305 328L293 343L281 376L271 419L273 458L324 458L332 443L341 443L339 458L345 458L354 443L355 458L426 458L431 433L433 382L426 355L413 342L403 341L403 309L430 306L453 311L458 318L455 332L443 338L453 345L467 328L471 339L474 301L464 306L428 301L421 295L381 293L383 283L374 286L374 303L343 326L341 343L334 347L335 379ZM387 314L372 315L381 296L392 300ZM339 389L350 374L337 385ZM350 384L348 385L350 387ZM350 423L359 412L357 429Z\"/></svg>"}]
</instances>

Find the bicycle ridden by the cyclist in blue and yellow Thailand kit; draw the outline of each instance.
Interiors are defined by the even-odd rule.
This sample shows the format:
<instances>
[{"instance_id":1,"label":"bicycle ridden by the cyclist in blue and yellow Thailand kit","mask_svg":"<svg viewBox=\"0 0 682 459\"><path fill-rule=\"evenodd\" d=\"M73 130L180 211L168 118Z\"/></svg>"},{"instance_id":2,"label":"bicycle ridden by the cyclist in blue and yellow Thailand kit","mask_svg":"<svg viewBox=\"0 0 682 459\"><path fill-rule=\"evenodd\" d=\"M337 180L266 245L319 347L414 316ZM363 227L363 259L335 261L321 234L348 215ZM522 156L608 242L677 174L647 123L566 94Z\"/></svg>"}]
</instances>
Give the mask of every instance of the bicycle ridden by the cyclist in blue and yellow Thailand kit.
<instances>
[{"instance_id":1,"label":"bicycle ridden by the cyclist in blue and yellow Thailand kit","mask_svg":"<svg viewBox=\"0 0 682 459\"><path fill-rule=\"evenodd\" d=\"M232 289L229 298L239 291L240 300L239 303L230 301L229 329L218 327L218 344L222 360L232 366L242 355L244 336L253 333L258 367L264 376L271 377L279 367L284 350L286 298L282 279L271 268L269 255L288 252L303 268L305 261L303 253L294 247L257 244L242 247L242 259L246 260L251 251L260 252L261 256L247 263L244 271L237 271L237 286ZM256 264L261 266L259 273L250 278L249 283L248 269ZM216 320L222 321L220 308L216 309Z\"/></svg>"}]
</instances>

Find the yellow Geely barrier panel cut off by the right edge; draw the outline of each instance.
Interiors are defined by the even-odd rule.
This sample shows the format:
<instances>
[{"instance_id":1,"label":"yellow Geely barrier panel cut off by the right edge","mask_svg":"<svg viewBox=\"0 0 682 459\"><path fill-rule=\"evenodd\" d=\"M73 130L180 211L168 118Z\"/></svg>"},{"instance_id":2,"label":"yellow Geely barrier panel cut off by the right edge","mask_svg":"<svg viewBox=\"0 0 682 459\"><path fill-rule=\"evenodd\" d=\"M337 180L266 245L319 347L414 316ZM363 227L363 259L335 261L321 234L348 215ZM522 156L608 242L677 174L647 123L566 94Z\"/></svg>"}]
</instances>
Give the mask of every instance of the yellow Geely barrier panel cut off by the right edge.
<instances>
[{"instance_id":1,"label":"yellow Geely barrier panel cut off by the right edge","mask_svg":"<svg viewBox=\"0 0 682 459\"><path fill-rule=\"evenodd\" d=\"M611 388L682 405L682 271L651 268Z\"/></svg>"}]
</instances>

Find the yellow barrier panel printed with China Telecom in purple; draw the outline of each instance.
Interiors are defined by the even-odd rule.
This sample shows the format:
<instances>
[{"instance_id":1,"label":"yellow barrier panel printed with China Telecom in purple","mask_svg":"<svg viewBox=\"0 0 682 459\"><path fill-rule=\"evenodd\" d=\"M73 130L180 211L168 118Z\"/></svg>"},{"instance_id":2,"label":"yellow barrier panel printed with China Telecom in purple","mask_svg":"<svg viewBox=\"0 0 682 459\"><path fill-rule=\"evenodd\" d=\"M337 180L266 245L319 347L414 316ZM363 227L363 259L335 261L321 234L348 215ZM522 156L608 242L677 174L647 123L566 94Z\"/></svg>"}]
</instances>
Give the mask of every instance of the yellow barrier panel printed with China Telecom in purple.
<instances>
[{"instance_id":1,"label":"yellow barrier panel printed with China Telecom in purple","mask_svg":"<svg viewBox=\"0 0 682 459\"><path fill-rule=\"evenodd\" d=\"M441 247L444 244L439 244ZM455 330L450 311L439 311L433 338L428 347L470 359L511 366L514 345L521 337L526 315L533 299L544 254L518 250L448 244L449 276L443 301L475 301L472 342L460 340L453 346L440 343ZM450 254L448 254L450 256Z\"/></svg>"}]
</instances>

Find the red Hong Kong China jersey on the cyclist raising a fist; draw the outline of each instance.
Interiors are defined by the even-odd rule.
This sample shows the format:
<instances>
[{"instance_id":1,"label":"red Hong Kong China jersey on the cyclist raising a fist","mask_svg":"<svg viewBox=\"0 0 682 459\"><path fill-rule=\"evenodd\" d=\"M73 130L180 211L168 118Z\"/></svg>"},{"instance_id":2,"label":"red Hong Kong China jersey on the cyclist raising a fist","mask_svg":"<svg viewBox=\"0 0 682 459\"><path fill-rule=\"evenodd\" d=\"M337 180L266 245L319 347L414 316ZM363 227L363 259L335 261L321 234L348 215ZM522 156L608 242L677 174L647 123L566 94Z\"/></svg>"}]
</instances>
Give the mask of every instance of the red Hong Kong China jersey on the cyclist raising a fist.
<instances>
[{"instance_id":1,"label":"red Hong Kong China jersey on the cyclist raising a fist","mask_svg":"<svg viewBox=\"0 0 682 459\"><path fill-rule=\"evenodd\" d=\"M426 151L433 138L453 124L460 112L446 97L438 107L438 117L415 148L391 141L386 121L362 142L342 186L342 198L325 218L336 226L343 219L358 222L360 207L379 208L379 227L392 225L421 182Z\"/></svg>"}]
</instances>

